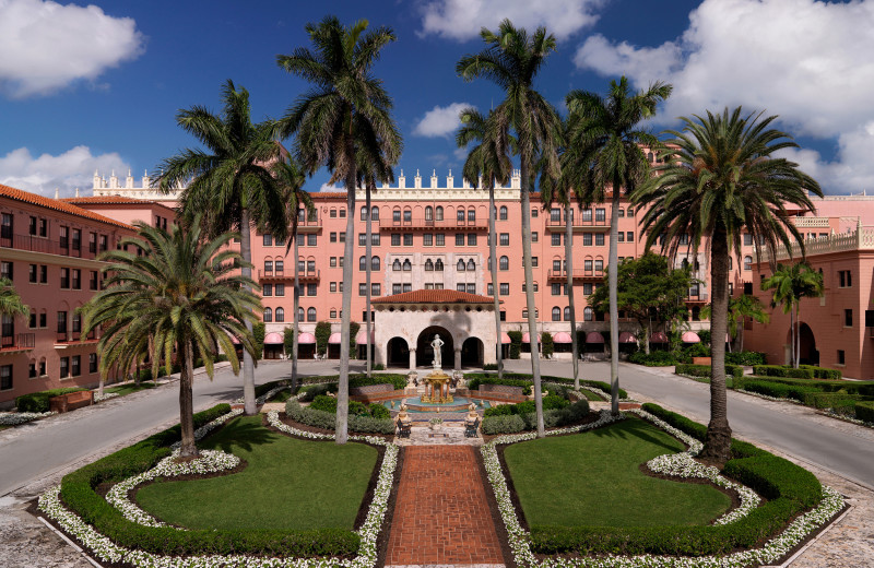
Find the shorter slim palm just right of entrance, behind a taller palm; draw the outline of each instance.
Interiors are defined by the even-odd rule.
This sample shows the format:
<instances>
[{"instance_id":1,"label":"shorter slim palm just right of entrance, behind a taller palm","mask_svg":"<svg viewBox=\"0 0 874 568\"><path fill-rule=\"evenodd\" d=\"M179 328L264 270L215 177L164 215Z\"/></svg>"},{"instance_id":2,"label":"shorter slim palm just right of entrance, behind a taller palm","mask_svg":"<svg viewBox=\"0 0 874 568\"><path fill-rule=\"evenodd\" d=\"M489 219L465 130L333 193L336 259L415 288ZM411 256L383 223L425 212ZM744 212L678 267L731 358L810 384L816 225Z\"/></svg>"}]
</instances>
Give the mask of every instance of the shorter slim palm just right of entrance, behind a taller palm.
<instances>
[{"instance_id":1,"label":"shorter slim palm just right of entrance, behind a taller palm","mask_svg":"<svg viewBox=\"0 0 874 568\"><path fill-rule=\"evenodd\" d=\"M495 184L506 185L509 181L512 164L508 155L510 145L515 143L511 138L505 140L495 128L489 128L487 120L474 108L463 109L459 118L461 128L456 134L456 144L468 147L477 143L468 153L464 161L462 176L477 189L480 179L485 182L488 190L488 270L492 272L492 299L495 306L495 338L497 338L498 379L504 378L504 345L500 342L500 299L498 298L498 271L497 251L495 249L497 235L495 233ZM492 116L489 115L489 119ZM496 135L497 134L497 135Z\"/></svg>"}]
</instances>

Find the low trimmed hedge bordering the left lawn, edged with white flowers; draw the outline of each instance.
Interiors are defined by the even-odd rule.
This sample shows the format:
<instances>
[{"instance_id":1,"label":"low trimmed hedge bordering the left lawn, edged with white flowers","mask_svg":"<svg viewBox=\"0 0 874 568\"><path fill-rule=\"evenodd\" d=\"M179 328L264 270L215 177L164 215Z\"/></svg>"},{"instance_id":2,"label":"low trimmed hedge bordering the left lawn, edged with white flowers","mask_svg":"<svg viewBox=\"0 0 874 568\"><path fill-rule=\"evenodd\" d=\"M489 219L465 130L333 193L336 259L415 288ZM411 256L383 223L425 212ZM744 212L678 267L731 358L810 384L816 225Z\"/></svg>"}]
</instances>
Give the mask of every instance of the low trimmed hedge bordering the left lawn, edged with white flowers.
<instances>
[{"instance_id":1,"label":"low trimmed hedge bordering the left lawn, edged with white flowers","mask_svg":"<svg viewBox=\"0 0 874 568\"><path fill-rule=\"evenodd\" d=\"M231 412L227 404L194 414L194 427L203 426ZM95 487L104 482L119 482L154 466L170 454L169 446L179 440L174 426L133 446L103 458L61 482L61 498L82 520L120 546L161 555L193 556L206 554L250 554L320 557L355 554L361 545L353 531L323 529L315 531L179 531L167 526L143 526L127 520L101 497Z\"/></svg>"}]
</instances>

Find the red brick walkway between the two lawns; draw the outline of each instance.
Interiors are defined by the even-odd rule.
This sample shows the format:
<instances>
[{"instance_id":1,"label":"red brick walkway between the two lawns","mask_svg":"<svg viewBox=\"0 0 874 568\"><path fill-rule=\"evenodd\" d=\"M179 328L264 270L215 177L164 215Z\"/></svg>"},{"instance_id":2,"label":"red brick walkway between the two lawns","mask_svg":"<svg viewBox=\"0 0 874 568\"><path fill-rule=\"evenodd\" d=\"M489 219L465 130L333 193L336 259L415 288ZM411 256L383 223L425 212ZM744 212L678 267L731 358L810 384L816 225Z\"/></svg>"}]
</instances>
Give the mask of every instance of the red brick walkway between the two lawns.
<instances>
[{"instance_id":1,"label":"red brick walkway between the two lawns","mask_svg":"<svg viewBox=\"0 0 874 568\"><path fill-rule=\"evenodd\" d=\"M386 566L503 565L476 448L404 451Z\"/></svg>"}]
</instances>

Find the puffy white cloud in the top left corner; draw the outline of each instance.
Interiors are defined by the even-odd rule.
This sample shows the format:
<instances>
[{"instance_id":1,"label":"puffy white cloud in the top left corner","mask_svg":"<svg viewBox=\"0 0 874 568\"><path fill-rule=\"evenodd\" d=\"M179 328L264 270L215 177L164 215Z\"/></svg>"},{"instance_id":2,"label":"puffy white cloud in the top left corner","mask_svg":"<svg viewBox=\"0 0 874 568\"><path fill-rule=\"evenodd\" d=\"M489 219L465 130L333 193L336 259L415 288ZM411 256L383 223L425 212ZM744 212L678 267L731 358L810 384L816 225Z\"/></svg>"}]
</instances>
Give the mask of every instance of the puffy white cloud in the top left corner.
<instances>
[{"instance_id":1,"label":"puffy white cloud in the top left corner","mask_svg":"<svg viewBox=\"0 0 874 568\"><path fill-rule=\"evenodd\" d=\"M0 1L0 87L13 97L93 81L142 51L137 23L106 15L96 5Z\"/></svg>"}]
</instances>

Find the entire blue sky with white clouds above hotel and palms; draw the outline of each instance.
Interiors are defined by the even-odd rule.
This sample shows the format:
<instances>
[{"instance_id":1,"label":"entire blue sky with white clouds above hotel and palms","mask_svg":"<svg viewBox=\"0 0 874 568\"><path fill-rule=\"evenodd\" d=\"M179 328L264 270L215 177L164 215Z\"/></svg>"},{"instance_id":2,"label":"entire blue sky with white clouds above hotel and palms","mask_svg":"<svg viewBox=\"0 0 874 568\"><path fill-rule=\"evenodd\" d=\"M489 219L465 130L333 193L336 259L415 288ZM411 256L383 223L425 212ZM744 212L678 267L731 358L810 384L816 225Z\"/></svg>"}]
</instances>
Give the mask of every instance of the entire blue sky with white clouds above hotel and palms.
<instances>
[{"instance_id":1,"label":"entire blue sky with white clouds above hotel and palms","mask_svg":"<svg viewBox=\"0 0 874 568\"><path fill-rule=\"evenodd\" d=\"M0 0L0 182L69 196L87 193L95 168L152 173L194 144L177 110L217 111L227 79L249 90L256 120L281 116L307 85L276 55L307 46L304 25L328 13L397 34L374 72L394 98L399 169L421 169L425 185L432 169L442 178L462 164L459 106L500 100L488 82L459 79L454 63L482 49L481 26L510 17L557 36L538 82L555 105L621 74L637 87L664 80L675 92L653 130L725 105L767 109L827 192L874 190L874 1L813 0Z\"/></svg>"}]
</instances>

